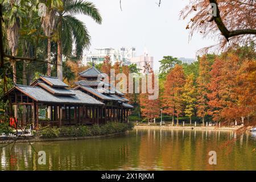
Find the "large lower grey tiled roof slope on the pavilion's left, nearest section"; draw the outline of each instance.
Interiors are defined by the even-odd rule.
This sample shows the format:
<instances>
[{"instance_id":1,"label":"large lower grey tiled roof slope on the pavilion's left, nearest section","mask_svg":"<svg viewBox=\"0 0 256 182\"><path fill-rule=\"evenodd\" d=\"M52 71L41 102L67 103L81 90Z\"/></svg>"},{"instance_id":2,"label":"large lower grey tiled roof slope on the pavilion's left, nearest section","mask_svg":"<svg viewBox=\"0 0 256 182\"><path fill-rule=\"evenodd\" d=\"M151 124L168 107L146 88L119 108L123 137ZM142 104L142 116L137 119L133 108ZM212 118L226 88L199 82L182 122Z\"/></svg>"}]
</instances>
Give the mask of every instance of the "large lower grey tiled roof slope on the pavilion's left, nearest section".
<instances>
[{"instance_id":1,"label":"large lower grey tiled roof slope on the pavilion's left, nearest section","mask_svg":"<svg viewBox=\"0 0 256 182\"><path fill-rule=\"evenodd\" d=\"M104 105L104 103L96 100L88 94L82 93L80 90L70 90L75 94L75 96L55 96L38 86L15 85L15 88L39 102Z\"/></svg>"}]
</instances>

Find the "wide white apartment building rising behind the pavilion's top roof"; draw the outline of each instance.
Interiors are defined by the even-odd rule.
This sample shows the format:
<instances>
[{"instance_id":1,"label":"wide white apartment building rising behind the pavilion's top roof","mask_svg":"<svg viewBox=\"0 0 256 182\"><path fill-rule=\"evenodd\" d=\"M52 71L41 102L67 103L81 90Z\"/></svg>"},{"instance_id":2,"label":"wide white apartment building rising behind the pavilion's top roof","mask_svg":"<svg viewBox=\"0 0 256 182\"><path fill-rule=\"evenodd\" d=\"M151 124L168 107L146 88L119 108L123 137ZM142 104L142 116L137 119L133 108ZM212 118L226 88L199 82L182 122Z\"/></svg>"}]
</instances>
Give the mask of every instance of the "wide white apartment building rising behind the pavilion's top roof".
<instances>
[{"instance_id":1,"label":"wide white apartment building rising behind the pavilion's top roof","mask_svg":"<svg viewBox=\"0 0 256 182\"><path fill-rule=\"evenodd\" d=\"M94 52L90 51L85 53L82 58L82 64L87 65L87 63L92 61L94 61L95 64L100 64L103 63L106 56L109 56L112 64L114 64L115 61L122 61L122 64L130 65L130 59L135 55L136 49L134 47L121 47L120 49L111 47L96 48Z\"/></svg>"}]
</instances>

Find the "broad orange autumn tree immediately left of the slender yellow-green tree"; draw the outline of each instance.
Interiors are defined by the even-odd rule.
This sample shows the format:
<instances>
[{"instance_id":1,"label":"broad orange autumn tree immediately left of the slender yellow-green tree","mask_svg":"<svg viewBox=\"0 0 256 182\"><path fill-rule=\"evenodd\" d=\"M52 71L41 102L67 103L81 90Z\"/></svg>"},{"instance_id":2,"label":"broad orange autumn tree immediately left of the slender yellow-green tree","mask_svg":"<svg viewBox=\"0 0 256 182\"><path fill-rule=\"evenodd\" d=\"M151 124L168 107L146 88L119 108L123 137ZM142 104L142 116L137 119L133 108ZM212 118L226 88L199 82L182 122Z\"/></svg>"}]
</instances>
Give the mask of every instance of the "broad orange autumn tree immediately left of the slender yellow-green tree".
<instances>
[{"instance_id":1,"label":"broad orange autumn tree immediately left of the slender yellow-green tree","mask_svg":"<svg viewBox=\"0 0 256 182\"><path fill-rule=\"evenodd\" d=\"M168 73L165 82L163 93L163 111L172 115L174 122L174 115L177 117L177 125L179 125L179 116L183 111L183 100L181 98L183 86L185 84L185 75L181 65L176 64Z\"/></svg>"}]
</instances>

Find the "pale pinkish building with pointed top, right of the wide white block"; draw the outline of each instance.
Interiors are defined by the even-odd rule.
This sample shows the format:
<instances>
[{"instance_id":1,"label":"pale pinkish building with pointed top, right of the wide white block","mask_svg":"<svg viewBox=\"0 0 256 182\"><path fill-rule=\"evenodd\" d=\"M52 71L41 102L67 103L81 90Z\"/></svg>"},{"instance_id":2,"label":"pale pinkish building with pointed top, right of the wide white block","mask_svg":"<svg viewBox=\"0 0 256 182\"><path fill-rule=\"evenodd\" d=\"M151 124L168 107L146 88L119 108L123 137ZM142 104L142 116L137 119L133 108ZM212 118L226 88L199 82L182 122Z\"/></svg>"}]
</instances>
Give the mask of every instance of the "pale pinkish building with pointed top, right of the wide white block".
<instances>
[{"instance_id":1,"label":"pale pinkish building with pointed top, right of the wide white block","mask_svg":"<svg viewBox=\"0 0 256 182\"><path fill-rule=\"evenodd\" d=\"M148 54L146 48L144 48L143 55L131 57L130 62L131 64L137 64L137 68L141 69L141 73L144 73L144 66L146 63L150 64L150 67L154 69L154 57Z\"/></svg>"}]
</instances>

